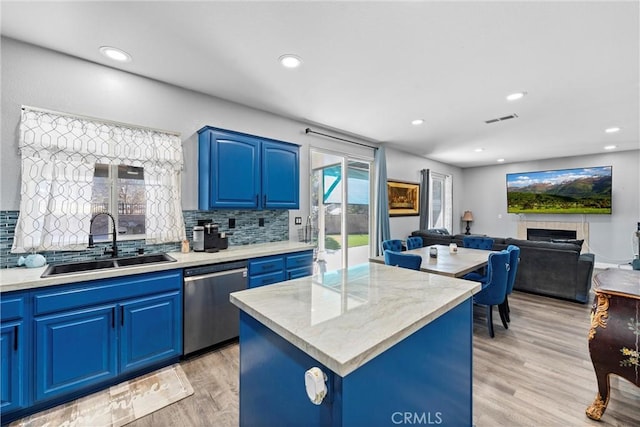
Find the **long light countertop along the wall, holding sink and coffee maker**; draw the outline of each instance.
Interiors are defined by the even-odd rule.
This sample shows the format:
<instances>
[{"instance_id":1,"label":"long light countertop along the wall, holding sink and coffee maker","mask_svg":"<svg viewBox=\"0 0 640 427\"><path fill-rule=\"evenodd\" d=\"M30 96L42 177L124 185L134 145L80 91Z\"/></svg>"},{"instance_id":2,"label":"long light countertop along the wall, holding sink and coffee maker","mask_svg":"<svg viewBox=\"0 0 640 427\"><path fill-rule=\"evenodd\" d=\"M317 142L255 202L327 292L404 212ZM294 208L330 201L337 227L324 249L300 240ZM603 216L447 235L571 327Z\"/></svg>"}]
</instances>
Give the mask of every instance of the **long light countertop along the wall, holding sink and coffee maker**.
<instances>
[{"instance_id":1,"label":"long light countertop along the wall, holding sink and coffee maker","mask_svg":"<svg viewBox=\"0 0 640 427\"><path fill-rule=\"evenodd\" d=\"M153 271L172 270L175 268L194 267L198 265L216 264L227 261L258 258L269 255L280 255L290 252L312 250L313 246L306 243L283 241L259 243L254 245L231 246L216 253L207 252L170 252L169 255L177 262L146 264L135 267L112 268L88 271L83 273L61 274L41 278L47 266L38 268L5 268L0 270L0 292L40 288L44 286L62 285L67 283L84 282L88 280L110 277L128 276L132 274L150 273Z\"/></svg>"}]
</instances>

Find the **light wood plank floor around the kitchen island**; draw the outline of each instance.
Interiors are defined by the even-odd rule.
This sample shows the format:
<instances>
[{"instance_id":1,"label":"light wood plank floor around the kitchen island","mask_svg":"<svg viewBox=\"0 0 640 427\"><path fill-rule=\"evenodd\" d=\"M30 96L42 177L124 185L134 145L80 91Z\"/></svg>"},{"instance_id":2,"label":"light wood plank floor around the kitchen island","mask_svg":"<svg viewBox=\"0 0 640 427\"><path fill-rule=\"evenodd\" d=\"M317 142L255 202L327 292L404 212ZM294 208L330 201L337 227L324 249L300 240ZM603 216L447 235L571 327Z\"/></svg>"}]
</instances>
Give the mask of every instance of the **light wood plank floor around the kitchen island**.
<instances>
[{"instance_id":1,"label":"light wood plank floor around the kitchen island","mask_svg":"<svg viewBox=\"0 0 640 427\"><path fill-rule=\"evenodd\" d=\"M587 332L591 304L514 292L511 326L494 309L495 338L484 309L474 315L474 424L494 426L639 426L640 388L611 377L602 421L584 411L596 395ZM182 363L195 393L128 426L237 426L238 345Z\"/></svg>"}]
</instances>

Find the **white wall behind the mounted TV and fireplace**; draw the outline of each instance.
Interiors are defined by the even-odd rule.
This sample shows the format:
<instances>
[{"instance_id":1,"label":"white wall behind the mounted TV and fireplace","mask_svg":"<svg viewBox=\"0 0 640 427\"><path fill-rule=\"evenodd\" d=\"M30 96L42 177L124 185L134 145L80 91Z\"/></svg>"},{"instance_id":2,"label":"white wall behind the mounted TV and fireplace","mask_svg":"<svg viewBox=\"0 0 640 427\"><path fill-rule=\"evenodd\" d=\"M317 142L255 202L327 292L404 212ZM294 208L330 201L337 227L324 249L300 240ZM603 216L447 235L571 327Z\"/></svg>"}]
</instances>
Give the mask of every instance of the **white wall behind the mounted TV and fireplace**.
<instances>
[{"instance_id":1,"label":"white wall behind the mounted TV and fireplace","mask_svg":"<svg viewBox=\"0 0 640 427\"><path fill-rule=\"evenodd\" d=\"M613 166L611 215L507 214L507 173L610 165ZM596 263L623 264L633 258L632 233L640 221L640 150L469 168L464 175L463 209L473 211L472 232L515 237L521 220L586 222L588 249L595 253Z\"/></svg>"}]
</instances>

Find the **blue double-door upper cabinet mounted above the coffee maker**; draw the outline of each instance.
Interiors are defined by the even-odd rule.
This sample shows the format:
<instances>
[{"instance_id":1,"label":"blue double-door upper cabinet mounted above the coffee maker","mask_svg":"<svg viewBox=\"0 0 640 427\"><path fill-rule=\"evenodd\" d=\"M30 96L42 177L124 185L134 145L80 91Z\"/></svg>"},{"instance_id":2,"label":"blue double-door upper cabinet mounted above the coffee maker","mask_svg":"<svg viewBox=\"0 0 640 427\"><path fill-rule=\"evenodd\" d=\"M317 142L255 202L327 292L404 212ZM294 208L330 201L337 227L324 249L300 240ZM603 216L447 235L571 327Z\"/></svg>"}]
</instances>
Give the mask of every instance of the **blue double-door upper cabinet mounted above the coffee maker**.
<instances>
[{"instance_id":1,"label":"blue double-door upper cabinet mounted above the coffee maker","mask_svg":"<svg viewBox=\"0 0 640 427\"><path fill-rule=\"evenodd\" d=\"M198 134L199 209L299 208L297 145L209 126Z\"/></svg>"}]
</instances>

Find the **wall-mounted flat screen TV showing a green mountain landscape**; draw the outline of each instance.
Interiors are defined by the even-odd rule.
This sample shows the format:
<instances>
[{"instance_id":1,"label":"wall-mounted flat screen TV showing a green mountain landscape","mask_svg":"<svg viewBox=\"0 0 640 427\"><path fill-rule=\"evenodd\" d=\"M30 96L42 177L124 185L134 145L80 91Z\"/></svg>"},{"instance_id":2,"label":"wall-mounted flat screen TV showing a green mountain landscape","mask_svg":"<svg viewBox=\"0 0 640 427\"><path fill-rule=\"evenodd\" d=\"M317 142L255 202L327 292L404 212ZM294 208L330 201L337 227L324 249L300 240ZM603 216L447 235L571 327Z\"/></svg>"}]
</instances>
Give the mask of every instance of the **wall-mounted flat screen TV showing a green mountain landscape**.
<instances>
[{"instance_id":1,"label":"wall-mounted flat screen TV showing a green mountain landscape","mask_svg":"<svg viewBox=\"0 0 640 427\"><path fill-rule=\"evenodd\" d=\"M507 174L507 212L611 214L611 166Z\"/></svg>"}]
</instances>

